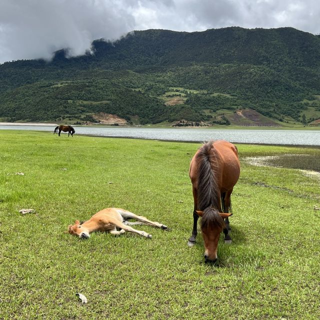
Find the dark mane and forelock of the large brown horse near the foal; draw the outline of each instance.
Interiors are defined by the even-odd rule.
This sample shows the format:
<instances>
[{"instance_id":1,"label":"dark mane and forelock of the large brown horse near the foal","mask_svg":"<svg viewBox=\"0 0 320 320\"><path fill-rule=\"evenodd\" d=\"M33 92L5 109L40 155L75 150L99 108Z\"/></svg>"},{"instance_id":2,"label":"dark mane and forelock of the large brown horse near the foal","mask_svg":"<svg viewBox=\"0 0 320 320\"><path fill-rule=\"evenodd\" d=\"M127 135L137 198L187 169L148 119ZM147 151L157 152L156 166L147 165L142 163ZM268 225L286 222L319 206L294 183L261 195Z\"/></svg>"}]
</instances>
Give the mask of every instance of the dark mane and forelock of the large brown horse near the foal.
<instances>
[{"instance_id":1,"label":"dark mane and forelock of the large brown horse near the foal","mask_svg":"<svg viewBox=\"0 0 320 320\"><path fill-rule=\"evenodd\" d=\"M217 151L212 145L213 141L209 141L201 146L197 153L198 164L198 185L197 198L198 209L203 211L201 226L207 224L224 225L222 217L219 215L220 207L219 188L217 185L215 170Z\"/></svg>"}]
</instances>

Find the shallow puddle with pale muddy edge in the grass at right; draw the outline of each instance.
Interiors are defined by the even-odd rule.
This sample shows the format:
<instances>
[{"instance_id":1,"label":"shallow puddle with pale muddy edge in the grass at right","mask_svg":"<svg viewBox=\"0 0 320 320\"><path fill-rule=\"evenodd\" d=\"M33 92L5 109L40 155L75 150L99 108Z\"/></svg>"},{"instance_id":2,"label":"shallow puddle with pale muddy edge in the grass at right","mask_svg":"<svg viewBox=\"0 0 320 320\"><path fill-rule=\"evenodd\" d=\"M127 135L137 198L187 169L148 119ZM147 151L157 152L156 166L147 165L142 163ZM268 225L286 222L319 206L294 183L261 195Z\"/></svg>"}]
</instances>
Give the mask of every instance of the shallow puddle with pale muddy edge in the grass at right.
<instances>
[{"instance_id":1,"label":"shallow puddle with pale muddy edge in the grass at right","mask_svg":"<svg viewBox=\"0 0 320 320\"><path fill-rule=\"evenodd\" d=\"M316 154L281 154L245 157L251 165L299 169L304 175L320 178L320 158Z\"/></svg>"}]
</instances>

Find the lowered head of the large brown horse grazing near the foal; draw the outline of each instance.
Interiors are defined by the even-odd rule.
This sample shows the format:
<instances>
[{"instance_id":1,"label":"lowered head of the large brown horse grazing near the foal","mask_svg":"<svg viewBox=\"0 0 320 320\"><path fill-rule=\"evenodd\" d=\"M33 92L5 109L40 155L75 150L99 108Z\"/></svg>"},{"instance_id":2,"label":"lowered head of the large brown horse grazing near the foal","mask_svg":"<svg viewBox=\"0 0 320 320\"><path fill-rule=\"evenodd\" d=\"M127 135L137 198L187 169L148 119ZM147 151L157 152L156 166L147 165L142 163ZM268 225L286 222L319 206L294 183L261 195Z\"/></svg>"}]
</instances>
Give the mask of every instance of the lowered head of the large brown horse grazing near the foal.
<instances>
[{"instance_id":1,"label":"lowered head of the large brown horse grazing near the foal","mask_svg":"<svg viewBox=\"0 0 320 320\"><path fill-rule=\"evenodd\" d=\"M202 217L201 232L204 241L204 260L205 262L215 262L220 233L225 227L223 219L231 213L221 213L211 207L196 212Z\"/></svg>"}]
</instances>

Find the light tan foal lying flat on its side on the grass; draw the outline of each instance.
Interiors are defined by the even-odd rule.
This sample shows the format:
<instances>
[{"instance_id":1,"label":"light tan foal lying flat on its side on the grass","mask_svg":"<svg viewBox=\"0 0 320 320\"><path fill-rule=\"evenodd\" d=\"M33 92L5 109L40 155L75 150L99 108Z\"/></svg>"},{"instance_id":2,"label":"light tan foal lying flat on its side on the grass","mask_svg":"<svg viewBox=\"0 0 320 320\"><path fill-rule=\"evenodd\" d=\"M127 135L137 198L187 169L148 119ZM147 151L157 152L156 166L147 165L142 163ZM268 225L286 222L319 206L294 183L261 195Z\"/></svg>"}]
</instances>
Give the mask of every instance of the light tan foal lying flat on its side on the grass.
<instances>
[{"instance_id":1,"label":"light tan foal lying flat on its side on the grass","mask_svg":"<svg viewBox=\"0 0 320 320\"><path fill-rule=\"evenodd\" d=\"M138 222L129 222L126 219L133 218ZM94 231L109 231L113 235L119 235L127 232L138 233L147 238L151 238L151 234L144 231L133 229L130 225L146 224L155 226L161 229L166 229L167 226L158 222L148 220L144 216L136 215L124 209L119 208L106 208L91 216L91 218L83 223L75 220L74 224L68 226L68 232L79 236L82 239L90 237L89 233ZM120 228L117 230L116 228Z\"/></svg>"}]
</instances>

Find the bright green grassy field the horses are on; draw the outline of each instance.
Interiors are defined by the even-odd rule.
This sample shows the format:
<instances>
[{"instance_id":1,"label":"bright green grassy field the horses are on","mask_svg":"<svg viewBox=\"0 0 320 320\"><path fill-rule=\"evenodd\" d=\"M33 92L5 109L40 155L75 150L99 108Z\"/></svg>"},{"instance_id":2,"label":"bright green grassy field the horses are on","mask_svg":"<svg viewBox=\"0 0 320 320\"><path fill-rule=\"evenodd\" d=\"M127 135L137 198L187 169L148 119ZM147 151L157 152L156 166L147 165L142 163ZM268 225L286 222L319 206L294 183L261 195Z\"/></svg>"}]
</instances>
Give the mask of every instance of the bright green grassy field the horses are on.
<instances>
[{"instance_id":1,"label":"bright green grassy field the horses are on","mask_svg":"<svg viewBox=\"0 0 320 320\"><path fill-rule=\"evenodd\" d=\"M319 180L244 158L320 149L237 144L233 242L211 265L200 234L186 245L199 145L1 130L0 319L318 319ZM64 233L112 206L170 230Z\"/></svg>"}]
</instances>

